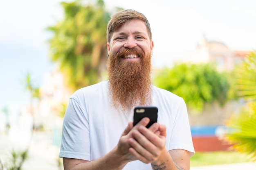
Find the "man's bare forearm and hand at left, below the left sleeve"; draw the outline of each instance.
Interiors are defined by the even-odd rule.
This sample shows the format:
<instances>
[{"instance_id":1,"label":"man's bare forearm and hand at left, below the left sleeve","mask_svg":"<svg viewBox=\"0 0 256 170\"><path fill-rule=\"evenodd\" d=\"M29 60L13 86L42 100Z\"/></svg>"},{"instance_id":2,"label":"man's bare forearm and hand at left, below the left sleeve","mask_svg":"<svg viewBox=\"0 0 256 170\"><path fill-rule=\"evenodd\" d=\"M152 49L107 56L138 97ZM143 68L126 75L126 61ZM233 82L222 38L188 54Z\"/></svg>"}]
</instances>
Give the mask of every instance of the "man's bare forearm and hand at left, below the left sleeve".
<instances>
[{"instance_id":1,"label":"man's bare forearm and hand at left, below the left sleeve","mask_svg":"<svg viewBox=\"0 0 256 170\"><path fill-rule=\"evenodd\" d=\"M121 170L124 166L130 162L137 160L137 158L130 153L129 140L132 138L133 131L137 131L140 126L145 127L149 123L149 118L142 119L134 127L132 122L129 122L128 126L122 133L117 146L111 150L107 155L104 155L100 159L94 161L86 161L81 159L63 158L63 164L65 170ZM146 128L146 127L145 127ZM159 134L157 131L158 126L150 126L148 129L152 133Z\"/></svg>"}]
</instances>

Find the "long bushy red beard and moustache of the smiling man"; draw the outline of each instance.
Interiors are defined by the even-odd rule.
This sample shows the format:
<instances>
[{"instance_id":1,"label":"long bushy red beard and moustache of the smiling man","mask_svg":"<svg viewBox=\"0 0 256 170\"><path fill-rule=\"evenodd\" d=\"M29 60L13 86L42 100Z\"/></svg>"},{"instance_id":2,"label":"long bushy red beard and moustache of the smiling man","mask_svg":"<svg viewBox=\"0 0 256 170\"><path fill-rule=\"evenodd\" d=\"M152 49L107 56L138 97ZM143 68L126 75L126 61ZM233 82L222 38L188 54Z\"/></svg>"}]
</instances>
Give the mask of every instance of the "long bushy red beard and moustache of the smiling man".
<instances>
[{"instance_id":1,"label":"long bushy red beard and moustache of the smiling man","mask_svg":"<svg viewBox=\"0 0 256 170\"><path fill-rule=\"evenodd\" d=\"M132 51L141 57L141 61L121 61ZM150 105L151 103L151 55L137 49L124 49L116 55L110 54L108 60L108 78L110 82L110 96L115 108L127 111L136 105Z\"/></svg>"}]
</instances>

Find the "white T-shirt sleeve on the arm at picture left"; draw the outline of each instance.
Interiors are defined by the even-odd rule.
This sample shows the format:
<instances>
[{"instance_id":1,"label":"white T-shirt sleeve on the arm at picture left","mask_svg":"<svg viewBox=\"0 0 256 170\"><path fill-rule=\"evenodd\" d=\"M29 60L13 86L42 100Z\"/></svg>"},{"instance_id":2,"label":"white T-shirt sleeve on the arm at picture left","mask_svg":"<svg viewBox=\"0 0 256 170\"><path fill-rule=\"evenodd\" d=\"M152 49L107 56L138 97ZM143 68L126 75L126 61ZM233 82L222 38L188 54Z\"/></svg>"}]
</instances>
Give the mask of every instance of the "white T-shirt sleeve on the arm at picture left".
<instances>
[{"instance_id":1,"label":"white T-shirt sleeve on the arm at picture left","mask_svg":"<svg viewBox=\"0 0 256 170\"><path fill-rule=\"evenodd\" d=\"M70 98L63 120L59 157L91 161L88 114L77 100Z\"/></svg>"}]
</instances>

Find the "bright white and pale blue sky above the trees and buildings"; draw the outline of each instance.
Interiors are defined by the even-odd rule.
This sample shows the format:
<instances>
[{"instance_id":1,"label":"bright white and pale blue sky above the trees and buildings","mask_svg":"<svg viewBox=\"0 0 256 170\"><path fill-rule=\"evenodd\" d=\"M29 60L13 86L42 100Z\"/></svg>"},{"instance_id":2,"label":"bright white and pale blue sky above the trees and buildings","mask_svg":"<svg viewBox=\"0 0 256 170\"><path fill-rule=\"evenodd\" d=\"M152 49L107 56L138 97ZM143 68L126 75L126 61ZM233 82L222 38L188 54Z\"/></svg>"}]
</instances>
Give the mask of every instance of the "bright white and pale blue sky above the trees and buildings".
<instances>
[{"instance_id":1,"label":"bright white and pale blue sky above the trees and buildings","mask_svg":"<svg viewBox=\"0 0 256 170\"><path fill-rule=\"evenodd\" d=\"M17 112L28 105L24 83L28 72L34 85L40 86L45 73L54 68L47 43L52 34L45 28L63 18L60 2L1 2L0 113L3 107ZM195 50L203 35L232 50L256 49L255 0L105 0L105 4L110 12L121 7L146 15L153 33L155 68L170 66L183 54Z\"/></svg>"}]
</instances>

